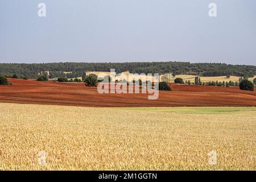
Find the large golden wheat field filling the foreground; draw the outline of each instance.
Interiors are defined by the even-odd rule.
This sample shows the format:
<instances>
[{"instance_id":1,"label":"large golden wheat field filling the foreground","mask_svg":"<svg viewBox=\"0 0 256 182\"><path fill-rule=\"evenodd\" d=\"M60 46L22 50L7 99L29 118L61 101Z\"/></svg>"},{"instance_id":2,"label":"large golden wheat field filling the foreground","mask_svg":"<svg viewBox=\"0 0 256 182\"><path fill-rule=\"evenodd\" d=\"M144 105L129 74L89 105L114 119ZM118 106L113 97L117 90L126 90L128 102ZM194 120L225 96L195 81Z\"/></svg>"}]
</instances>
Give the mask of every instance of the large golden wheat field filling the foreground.
<instances>
[{"instance_id":1,"label":"large golden wheat field filling the foreground","mask_svg":"<svg viewBox=\"0 0 256 182\"><path fill-rule=\"evenodd\" d=\"M255 170L255 107L0 104L1 170ZM46 163L39 163L40 151ZM216 151L217 164L208 153Z\"/></svg>"}]
</instances>

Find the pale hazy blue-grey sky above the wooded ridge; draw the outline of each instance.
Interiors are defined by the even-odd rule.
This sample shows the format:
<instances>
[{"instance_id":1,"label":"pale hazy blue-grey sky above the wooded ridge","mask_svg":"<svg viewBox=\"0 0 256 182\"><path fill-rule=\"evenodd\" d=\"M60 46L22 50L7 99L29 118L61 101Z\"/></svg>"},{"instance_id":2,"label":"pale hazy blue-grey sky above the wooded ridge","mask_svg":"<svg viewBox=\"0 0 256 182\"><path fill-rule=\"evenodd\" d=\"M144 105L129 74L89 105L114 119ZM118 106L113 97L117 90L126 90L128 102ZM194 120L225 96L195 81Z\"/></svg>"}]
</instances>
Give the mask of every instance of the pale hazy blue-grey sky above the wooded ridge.
<instances>
[{"instance_id":1,"label":"pale hazy blue-grey sky above the wooded ridge","mask_svg":"<svg viewBox=\"0 0 256 182\"><path fill-rule=\"evenodd\" d=\"M0 63L53 61L256 65L256 1L0 0Z\"/></svg>"}]
</instances>

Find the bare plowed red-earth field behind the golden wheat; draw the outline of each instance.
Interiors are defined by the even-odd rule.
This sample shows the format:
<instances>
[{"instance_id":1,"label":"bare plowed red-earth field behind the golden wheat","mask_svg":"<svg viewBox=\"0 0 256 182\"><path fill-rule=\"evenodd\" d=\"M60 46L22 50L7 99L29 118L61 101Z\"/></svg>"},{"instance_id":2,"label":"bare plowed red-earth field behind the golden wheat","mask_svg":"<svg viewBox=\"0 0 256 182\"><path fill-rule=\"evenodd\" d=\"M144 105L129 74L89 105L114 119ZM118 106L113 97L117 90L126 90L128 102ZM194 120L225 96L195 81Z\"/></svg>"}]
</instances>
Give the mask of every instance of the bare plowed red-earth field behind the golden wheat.
<instances>
[{"instance_id":1,"label":"bare plowed red-earth field behind the golden wheat","mask_svg":"<svg viewBox=\"0 0 256 182\"><path fill-rule=\"evenodd\" d=\"M0 85L0 102L95 107L256 106L256 91L238 87L172 84L172 92L160 91L158 100L148 100L147 94L99 94L97 88L84 83L9 81L13 85Z\"/></svg>"}]
</instances>

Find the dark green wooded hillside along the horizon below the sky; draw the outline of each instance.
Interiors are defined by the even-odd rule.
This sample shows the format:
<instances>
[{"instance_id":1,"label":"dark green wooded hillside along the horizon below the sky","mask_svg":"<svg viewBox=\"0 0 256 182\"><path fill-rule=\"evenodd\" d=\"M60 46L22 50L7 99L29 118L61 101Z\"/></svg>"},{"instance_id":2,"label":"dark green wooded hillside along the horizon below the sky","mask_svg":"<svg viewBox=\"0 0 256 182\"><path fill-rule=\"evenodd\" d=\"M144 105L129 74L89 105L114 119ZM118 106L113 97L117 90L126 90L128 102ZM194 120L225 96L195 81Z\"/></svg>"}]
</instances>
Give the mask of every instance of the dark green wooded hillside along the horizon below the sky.
<instances>
[{"instance_id":1,"label":"dark green wooded hillside along the horizon below the sky","mask_svg":"<svg viewBox=\"0 0 256 182\"><path fill-rule=\"evenodd\" d=\"M189 62L134 62L134 63L46 63L46 64L0 64L1 75L17 74L20 77L36 78L38 73L47 72L49 78L66 76L68 78L81 77L86 71L121 73L175 73L175 75L200 76L249 76L254 77L256 66L230 65L221 63L189 63Z\"/></svg>"}]
</instances>

